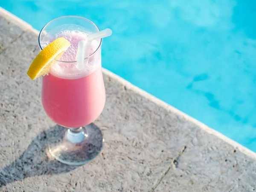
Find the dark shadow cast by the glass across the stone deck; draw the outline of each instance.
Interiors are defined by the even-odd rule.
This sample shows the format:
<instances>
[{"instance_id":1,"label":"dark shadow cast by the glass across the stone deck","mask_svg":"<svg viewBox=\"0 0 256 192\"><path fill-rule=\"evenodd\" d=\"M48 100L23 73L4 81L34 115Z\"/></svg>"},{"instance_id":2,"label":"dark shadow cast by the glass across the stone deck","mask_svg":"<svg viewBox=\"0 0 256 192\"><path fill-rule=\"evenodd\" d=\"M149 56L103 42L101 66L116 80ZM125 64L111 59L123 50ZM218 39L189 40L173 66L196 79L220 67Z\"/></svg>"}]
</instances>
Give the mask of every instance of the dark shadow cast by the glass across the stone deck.
<instances>
[{"instance_id":1,"label":"dark shadow cast by the glass across the stone deck","mask_svg":"<svg viewBox=\"0 0 256 192\"><path fill-rule=\"evenodd\" d=\"M57 175L76 169L78 166L69 166L57 160L49 159L50 156L47 153L47 140L57 137L64 131L66 131L65 128L56 125L41 132L20 157L0 170L0 187L23 180L26 177Z\"/></svg>"}]
</instances>

